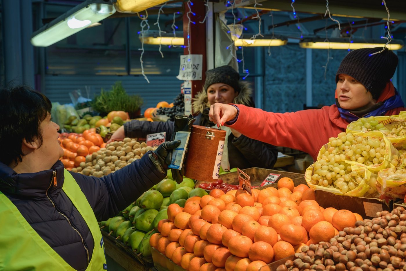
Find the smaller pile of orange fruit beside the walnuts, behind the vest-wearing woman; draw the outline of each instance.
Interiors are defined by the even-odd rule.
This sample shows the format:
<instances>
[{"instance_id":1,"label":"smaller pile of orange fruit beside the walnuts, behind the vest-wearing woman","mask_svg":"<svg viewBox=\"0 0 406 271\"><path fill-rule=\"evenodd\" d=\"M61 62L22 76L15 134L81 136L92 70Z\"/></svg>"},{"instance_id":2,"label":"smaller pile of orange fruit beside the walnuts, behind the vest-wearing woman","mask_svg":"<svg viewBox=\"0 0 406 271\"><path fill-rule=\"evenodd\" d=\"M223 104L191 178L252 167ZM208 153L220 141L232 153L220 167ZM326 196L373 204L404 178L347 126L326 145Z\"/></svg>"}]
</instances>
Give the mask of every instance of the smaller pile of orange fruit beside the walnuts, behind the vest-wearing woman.
<instances>
[{"instance_id":1,"label":"smaller pile of orange fruit beside the walnuts, behind the vest-wearing woman","mask_svg":"<svg viewBox=\"0 0 406 271\"><path fill-rule=\"evenodd\" d=\"M97 152L106 146L100 134L95 128L85 130L82 134L63 133L59 135L60 146L63 148L62 161L67 170L79 167L80 163L86 162L86 155Z\"/></svg>"}]
</instances>

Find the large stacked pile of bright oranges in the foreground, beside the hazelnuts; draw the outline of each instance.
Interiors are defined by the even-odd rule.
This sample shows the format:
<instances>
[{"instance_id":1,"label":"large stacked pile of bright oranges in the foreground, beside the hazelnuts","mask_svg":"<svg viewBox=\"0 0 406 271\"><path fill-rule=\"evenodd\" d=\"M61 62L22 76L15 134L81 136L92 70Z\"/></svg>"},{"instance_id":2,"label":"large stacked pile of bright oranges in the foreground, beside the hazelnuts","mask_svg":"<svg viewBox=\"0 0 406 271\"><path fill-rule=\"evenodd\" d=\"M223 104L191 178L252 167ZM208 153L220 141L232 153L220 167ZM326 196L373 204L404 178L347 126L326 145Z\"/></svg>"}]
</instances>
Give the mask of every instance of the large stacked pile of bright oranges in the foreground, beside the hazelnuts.
<instances>
[{"instance_id":1,"label":"large stacked pile of bright oranges in the foreground, beside the hazelnuts","mask_svg":"<svg viewBox=\"0 0 406 271\"><path fill-rule=\"evenodd\" d=\"M171 204L150 245L186 270L253 271L329 241L359 219L349 210L320 207L308 186L281 178L278 189L253 189L252 195L214 189L190 197L184 208Z\"/></svg>"}]
</instances>

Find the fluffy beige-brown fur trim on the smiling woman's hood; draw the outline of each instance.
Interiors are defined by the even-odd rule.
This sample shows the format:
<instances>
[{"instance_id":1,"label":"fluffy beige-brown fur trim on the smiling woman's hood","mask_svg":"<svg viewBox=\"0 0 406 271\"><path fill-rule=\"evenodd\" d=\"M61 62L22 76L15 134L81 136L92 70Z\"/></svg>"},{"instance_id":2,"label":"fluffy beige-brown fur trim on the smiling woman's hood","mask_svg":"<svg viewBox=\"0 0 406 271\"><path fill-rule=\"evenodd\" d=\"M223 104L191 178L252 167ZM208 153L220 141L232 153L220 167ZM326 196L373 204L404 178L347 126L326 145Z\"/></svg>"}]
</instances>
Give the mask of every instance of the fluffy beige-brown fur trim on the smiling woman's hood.
<instances>
[{"instance_id":1,"label":"fluffy beige-brown fur trim on the smiling woman's hood","mask_svg":"<svg viewBox=\"0 0 406 271\"><path fill-rule=\"evenodd\" d=\"M238 93L238 96L234 98L233 103L252 106L251 94L253 92L253 88L251 87L251 83L247 81L239 81L238 84L240 85L240 93ZM203 89L195 95L195 98L193 98L193 112L203 113L203 110L208 107L210 107L210 104L207 100L207 92L205 89Z\"/></svg>"}]
</instances>

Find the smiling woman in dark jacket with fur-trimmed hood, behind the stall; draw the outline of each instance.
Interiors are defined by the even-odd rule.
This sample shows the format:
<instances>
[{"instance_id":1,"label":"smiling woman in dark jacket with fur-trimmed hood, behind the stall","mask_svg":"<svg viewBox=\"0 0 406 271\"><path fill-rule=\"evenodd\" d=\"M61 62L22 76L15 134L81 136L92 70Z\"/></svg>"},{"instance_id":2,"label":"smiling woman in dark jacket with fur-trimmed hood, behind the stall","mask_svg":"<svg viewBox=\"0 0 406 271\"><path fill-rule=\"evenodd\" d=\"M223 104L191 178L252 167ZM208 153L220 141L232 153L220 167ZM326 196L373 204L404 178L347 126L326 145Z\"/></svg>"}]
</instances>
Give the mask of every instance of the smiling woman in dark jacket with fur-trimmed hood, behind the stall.
<instances>
[{"instance_id":1,"label":"smiling woman in dark jacket with fur-trimmed hood, behind the stall","mask_svg":"<svg viewBox=\"0 0 406 271\"><path fill-rule=\"evenodd\" d=\"M213 127L215 124L209 120L209 109L214 103L244 104L254 106L251 93L252 88L248 82L240 81L240 75L230 66L221 66L206 72L203 90L199 92L192 103L193 112L199 113L194 121L195 125ZM112 135L111 139L124 137L142 137L147 134L166 132L166 140L170 140L174 128L173 121L137 121L125 123ZM238 167L272 168L276 162L278 152L273 145L263 143L242 135L234 129L227 130L228 140L225 145L227 152L223 152L222 168Z\"/></svg>"}]
</instances>

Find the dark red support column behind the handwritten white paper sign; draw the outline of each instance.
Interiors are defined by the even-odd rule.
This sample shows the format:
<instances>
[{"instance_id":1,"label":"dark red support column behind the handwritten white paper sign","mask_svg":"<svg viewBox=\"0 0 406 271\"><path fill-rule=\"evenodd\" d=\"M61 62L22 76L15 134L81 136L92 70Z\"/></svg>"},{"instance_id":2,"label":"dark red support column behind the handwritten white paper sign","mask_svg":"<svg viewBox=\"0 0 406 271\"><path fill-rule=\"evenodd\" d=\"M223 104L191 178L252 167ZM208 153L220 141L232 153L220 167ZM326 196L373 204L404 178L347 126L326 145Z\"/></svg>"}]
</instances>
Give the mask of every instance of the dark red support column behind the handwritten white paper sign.
<instances>
[{"instance_id":1,"label":"dark red support column behind the handwritten white paper sign","mask_svg":"<svg viewBox=\"0 0 406 271\"><path fill-rule=\"evenodd\" d=\"M185 39L185 48L184 54L202 54L203 55L203 63L202 63L202 80L194 80L192 81L192 98L202 90L204 80L205 80L205 72L207 70L207 58L206 58L206 24L201 24L203 22L204 17L206 15L206 6L204 5L205 2L203 1L196 1L196 2L184 2L184 14L183 14L183 37ZM190 7L190 9L189 9ZM190 13L188 13L191 11ZM193 15L193 13L195 15ZM189 18L192 22L189 23ZM189 46L188 46L188 25L189 25Z\"/></svg>"}]
</instances>

